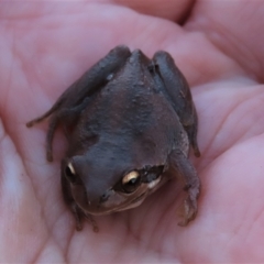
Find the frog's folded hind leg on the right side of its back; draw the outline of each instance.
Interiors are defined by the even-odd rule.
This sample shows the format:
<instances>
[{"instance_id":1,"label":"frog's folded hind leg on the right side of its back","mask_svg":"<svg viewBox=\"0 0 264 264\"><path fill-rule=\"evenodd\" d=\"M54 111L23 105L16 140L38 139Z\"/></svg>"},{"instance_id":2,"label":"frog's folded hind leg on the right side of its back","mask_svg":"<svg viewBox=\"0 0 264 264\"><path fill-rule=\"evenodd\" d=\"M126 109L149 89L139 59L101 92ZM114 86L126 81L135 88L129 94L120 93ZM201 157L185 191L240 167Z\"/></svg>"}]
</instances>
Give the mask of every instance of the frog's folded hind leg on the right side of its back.
<instances>
[{"instance_id":1,"label":"frog's folded hind leg on the right side of its back","mask_svg":"<svg viewBox=\"0 0 264 264\"><path fill-rule=\"evenodd\" d=\"M156 74L164 84L165 95L177 112L180 123L188 134L195 155L200 156L197 143L198 119L187 80L166 52L157 52L153 57Z\"/></svg>"}]
</instances>

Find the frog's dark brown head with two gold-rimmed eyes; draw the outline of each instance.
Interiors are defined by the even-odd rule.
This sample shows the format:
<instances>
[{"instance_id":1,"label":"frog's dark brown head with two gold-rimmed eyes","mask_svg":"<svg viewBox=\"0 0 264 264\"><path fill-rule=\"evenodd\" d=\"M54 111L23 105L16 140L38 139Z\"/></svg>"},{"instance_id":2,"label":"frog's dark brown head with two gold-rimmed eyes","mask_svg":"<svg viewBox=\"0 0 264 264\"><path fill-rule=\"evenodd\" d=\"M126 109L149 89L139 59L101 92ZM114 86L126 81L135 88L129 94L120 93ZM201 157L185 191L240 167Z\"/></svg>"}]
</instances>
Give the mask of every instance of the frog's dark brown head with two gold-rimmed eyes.
<instances>
[{"instance_id":1,"label":"frog's dark brown head with two gold-rimmed eyes","mask_svg":"<svg viewBox=\"0 0 264 264\"><path fill-rule=\"evenodd\" d=\"M131 146L105 142L62 162L62 177L85 212L107 215L136 207L165 183L166 165L150 158L150 150L145 151L144 145L135 148L138 154Z\"/></svg>"}]
</instances>

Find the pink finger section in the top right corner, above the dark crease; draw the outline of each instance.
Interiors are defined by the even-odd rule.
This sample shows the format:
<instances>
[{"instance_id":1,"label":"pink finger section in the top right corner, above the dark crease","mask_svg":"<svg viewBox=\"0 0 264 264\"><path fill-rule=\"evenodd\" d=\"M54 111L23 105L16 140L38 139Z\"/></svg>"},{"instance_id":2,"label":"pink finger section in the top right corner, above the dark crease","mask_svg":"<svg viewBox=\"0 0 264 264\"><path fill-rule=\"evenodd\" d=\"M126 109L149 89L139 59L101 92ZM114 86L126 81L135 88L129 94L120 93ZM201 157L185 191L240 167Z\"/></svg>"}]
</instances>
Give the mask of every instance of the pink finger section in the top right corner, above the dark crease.
<instances>
[{"instance_id":1,"label":"pink finger section in the top right corner, above the dark crease","mask_svg":"<svg viewBox=\"0 0 264 264\"><path fill-rule=\"evenodd\" d=\"M200 1L188 26L205 32L228 57L263 80L263 12L262 1Z\"/></svg>"}]
</instances>

